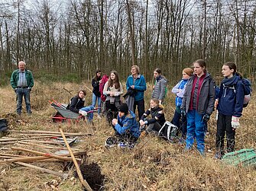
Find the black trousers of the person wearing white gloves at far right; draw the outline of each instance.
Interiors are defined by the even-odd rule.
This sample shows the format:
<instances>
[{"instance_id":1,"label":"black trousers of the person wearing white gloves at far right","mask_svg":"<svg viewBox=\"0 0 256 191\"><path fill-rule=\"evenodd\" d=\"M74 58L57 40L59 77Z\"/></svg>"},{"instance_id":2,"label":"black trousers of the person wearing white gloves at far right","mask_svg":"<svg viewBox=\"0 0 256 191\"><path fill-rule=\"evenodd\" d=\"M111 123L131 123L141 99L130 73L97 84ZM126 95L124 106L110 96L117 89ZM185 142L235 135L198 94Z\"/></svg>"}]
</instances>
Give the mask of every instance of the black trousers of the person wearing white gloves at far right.
<instances>
[{"instance_id":1,"label":"black trousers of the person wearing white gloves at far right","mask_svg":"<svg viewBox=\"0 0 256 191\"><path fill-rule=\"evenodd\" d=\"M216 133L216 148L220 154L224 154L225 134L227 139L227 151L235 150L235 129L231 126L232 116L225 116L222 113L218 115L217 133Z\"/></svg>"}]
</instances>

